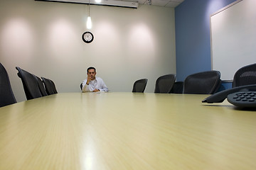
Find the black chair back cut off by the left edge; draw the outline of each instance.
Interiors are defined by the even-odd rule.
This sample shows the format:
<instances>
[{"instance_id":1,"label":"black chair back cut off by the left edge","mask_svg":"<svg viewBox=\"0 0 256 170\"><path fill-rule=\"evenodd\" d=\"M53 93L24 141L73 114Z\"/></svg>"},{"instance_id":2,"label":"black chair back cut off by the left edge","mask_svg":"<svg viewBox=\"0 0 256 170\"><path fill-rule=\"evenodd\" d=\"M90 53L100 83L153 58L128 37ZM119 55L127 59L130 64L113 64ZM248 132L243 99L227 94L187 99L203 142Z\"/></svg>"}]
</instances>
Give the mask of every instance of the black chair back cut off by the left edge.
<instances>
[{"instance_id":1,"label":"black chair back cut off by the left edge","mask_svg":"<svg viewBox=\"0 0 256 170\"><path fill-rule=\"evenodd\" d=\"M8 73L6 72L4 66L0 63L0 107L14 103L17 102L11 89Z\"/></svg>"}]
</instances>

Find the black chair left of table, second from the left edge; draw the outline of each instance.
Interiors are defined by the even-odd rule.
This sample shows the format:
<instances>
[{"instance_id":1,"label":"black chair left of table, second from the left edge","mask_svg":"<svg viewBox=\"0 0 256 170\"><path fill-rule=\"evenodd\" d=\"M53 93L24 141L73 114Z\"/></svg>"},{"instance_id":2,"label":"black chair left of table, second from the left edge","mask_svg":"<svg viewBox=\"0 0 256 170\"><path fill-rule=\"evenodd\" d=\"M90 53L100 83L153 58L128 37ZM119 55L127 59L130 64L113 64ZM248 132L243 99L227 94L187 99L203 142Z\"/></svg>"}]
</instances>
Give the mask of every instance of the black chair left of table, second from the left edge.
<instances>
[{"instance_id":1,"label":"black chair left of table, second from the left edge","mask_svg":"<svg viewBox=\"0 0 256 170\"><path fill-rule=\"evenodd\" d=\"M36 77L20 67L16 67L16 69L18 70L18 77L21 78L27 100L42 97Z\"/></svg>"}]
</instances>

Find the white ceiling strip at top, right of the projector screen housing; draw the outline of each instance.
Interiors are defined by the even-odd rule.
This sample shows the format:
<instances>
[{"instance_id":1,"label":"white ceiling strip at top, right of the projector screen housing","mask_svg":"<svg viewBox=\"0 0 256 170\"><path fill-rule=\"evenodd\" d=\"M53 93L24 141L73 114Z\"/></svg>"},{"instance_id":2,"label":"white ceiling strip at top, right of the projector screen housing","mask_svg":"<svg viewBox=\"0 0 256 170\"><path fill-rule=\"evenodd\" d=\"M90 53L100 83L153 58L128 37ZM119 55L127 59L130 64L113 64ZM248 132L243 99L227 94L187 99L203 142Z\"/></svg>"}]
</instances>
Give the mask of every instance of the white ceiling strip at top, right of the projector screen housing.
<instances>
[{"instance_id":1,"label":"white ceiling strip at top, right of the projector screen housing","mask_svg":"<svg viewBox=\"0 0 256 170\"><path fill-rule=\"evenodd\" d=\"M132 2L138 2L139 4L148 4L149 1L151 1L152 6L166 6L166 7L172 7L175 8L181 2L184 0L124 0L124 1L132 1Z\"/></svg>"}]
</instances>

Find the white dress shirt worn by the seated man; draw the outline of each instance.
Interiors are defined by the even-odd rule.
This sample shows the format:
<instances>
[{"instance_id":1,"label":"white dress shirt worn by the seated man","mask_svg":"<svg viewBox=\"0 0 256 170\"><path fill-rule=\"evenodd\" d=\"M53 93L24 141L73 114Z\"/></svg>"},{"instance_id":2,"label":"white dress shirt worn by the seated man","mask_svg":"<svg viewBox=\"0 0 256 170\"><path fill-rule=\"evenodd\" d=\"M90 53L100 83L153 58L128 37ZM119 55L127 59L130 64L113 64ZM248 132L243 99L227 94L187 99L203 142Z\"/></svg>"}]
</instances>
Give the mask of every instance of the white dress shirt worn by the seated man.
<instances>
[{"instance_id":1,"label":"white dress shirt worn by the seated man","mask_svg":"<svg viewBox=\"0 0 256 170\"><path fill-rule=\"evenodd\" d=\"M100 91L108 91L106 84L100 77L95 77L94 80L89 82L89 85L86 84L87 79L82 81L82 92L90 92L95 89L99 89Z\"/></svg>"}]
</instances>

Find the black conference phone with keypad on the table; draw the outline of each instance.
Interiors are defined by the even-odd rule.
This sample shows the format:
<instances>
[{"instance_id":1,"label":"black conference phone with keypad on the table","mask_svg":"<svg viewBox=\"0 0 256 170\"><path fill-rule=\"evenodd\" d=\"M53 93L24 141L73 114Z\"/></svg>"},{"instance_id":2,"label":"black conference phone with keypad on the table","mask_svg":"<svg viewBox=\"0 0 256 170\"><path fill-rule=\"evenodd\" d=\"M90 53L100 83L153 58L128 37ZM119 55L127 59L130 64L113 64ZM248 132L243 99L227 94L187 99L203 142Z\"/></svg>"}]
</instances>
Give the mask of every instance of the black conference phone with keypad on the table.
<instances>
[{"instance_id":1,"label":"black conference phone with keypad on the table","mask_svg":"<svg viewBox=\"0 0 256 170\"><path fill-rule=\"evenodd\" d=\"M220 91L208 98L203 103L221 103L228 98L228 102L238 107L256 108L256 84L238 86Z\"/></svg>"}]
</instances>

